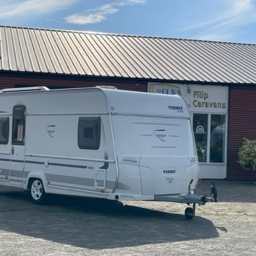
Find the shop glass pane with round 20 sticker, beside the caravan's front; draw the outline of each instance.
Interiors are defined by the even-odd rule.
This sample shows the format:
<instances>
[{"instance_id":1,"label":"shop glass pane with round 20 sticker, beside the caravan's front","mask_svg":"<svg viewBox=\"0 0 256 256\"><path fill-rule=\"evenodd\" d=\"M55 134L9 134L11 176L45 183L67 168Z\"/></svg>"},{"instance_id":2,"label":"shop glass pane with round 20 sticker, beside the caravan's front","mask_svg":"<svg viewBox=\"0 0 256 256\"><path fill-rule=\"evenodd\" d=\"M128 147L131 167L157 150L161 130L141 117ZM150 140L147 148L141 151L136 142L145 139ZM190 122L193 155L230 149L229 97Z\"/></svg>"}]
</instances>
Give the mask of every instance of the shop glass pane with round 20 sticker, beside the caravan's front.
<instances>
[{"instance_id":1,"label":"shop glass pane with round 20 sticker, beside the caravan's front","mask_svg":"<svg viewBox=\"0 0 256 256\"><path fill-rule=\"evenodd\" d=\"M207 162L208 114L193 115L193 131L199 162Z\"/></svg>"}]
</instances>

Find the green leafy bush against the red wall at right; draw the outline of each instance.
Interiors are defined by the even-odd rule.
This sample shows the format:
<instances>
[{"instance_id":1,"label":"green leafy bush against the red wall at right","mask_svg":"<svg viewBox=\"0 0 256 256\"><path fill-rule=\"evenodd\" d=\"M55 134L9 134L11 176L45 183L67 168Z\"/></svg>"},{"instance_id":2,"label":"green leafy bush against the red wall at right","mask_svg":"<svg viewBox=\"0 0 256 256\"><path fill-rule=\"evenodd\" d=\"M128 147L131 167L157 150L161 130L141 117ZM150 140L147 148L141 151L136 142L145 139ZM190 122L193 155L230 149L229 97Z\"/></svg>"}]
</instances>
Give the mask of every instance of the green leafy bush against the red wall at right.
<instances>
[{"instance_id":1,"label":"green leafy bush against the red wall at right","mask_svg":"<svg viewBox=\"0 0 256 256\"><path fill-rule=\"evenodd\" d=\"M256 140L244 138L243 145L239 148L238 162L244 170L256 170Z\"/></svg>"}]
</instances>

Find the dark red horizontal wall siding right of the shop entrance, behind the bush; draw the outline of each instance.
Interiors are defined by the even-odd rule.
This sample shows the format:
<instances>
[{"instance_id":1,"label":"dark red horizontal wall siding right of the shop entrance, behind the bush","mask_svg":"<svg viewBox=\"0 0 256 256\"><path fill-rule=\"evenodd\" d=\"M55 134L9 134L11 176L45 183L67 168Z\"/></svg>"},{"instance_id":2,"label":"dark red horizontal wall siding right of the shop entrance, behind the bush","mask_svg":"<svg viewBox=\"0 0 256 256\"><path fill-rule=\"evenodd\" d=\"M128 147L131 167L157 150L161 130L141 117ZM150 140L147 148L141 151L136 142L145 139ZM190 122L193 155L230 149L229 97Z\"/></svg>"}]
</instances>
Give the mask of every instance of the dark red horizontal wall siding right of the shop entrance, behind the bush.
<instances>
[{"instance_id":1,"label":"dark red horizontal wall siding right of the shop entrance, behind the bush","mask_svg":"<svg viewBox=\"0 0 256 256\"><path fill-rule=\"evenodd\" d=\"M230 180L256 180L256 171L245 171L237 163L243 138L256 138L256 90L230 89L228 173Z\"/></svg>"}]
</instances>

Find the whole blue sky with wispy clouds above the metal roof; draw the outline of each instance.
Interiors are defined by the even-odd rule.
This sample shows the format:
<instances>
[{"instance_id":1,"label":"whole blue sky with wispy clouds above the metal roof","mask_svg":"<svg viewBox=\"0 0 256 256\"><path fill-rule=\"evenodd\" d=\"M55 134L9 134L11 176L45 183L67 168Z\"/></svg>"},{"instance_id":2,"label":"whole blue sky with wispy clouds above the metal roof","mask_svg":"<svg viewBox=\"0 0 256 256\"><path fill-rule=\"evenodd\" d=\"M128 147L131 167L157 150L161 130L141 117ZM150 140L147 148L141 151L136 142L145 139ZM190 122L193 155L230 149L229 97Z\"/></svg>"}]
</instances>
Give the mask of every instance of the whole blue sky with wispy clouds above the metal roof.
<instances>
[{"instance_id":1,"label":"whole blue sky with wispy clouds above the metal roof","mask_svg":"<svg viewBox=\"0 0 256 256\"><path fill-rule=\"evenodd\" d=\"M0 24L256 44L256 0L0 0Z\"/></svg>"}]
</instances>

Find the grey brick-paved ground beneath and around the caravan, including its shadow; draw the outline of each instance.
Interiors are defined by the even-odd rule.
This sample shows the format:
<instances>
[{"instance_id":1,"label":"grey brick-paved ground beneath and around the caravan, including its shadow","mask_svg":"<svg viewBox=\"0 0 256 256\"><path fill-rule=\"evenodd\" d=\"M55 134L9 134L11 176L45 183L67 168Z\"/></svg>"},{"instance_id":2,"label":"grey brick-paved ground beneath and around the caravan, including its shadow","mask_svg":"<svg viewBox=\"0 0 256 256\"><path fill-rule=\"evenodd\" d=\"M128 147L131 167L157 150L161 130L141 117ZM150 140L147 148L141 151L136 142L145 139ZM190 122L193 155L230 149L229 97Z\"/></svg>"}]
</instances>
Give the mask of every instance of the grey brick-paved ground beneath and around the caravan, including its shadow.
<instances>
[{"instance_id":1,"label":"grey brick-paved ground beneath and around the caravan, including its shadow","mask_svg":"<svg viewBox=\"0 0 256 256\"><path fill-rule=\"evenodd\" d=\"M217 204L102 201L54 196L48 205L0 186L0 255L256 256L256 185L216 181ZM209 192L204 180L198 192Z\"/></svg>"}]
</instances>

